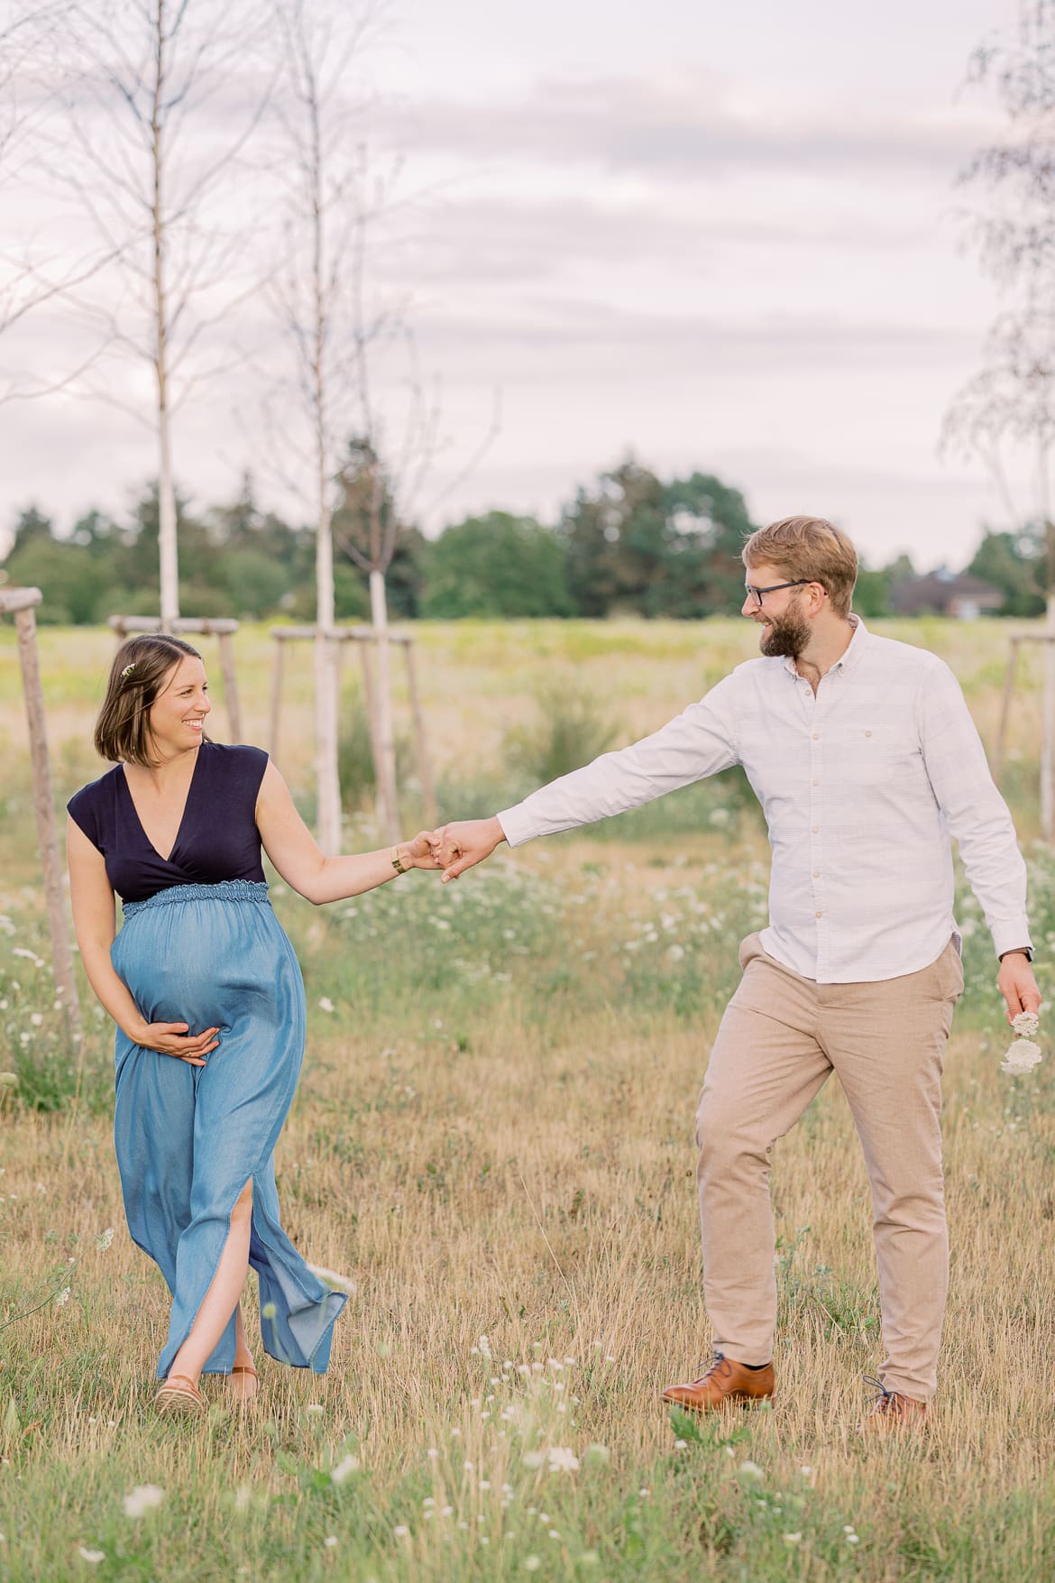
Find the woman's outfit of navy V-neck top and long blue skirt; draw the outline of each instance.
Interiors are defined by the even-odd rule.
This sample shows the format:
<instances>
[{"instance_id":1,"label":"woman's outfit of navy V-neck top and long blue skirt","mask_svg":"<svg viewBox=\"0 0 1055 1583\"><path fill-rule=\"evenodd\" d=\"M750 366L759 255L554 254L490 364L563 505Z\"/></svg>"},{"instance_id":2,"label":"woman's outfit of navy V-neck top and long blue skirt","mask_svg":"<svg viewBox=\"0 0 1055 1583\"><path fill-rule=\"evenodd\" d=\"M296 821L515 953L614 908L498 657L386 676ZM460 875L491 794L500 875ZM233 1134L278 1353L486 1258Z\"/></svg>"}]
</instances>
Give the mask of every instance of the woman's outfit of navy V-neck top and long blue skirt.
<instances>
[{"instance_id":1,"label":"woman's outfit of navy V-neck top and long blue skirt","mask_svg":"<svg viewBox=\"0 0 1055 1583\"><path fill-rule=\"evenodd\" d=\"M256 795L266 768L258 747L202 742L168 858L147 841L120 765L68 804L122 898L111 961L142 1016L188 1023L191 1034L220 1029L204 1067L133 1045L117 1029L114 1141L128 1230L172 1293L158 1379L191 1331L248 1181L264 1350L323 1374L346 1303L312 1274L278 1214L274 1151L307 1019L301 967L261 863ZM204 1372L229 1374L233 1363L234 1312Z\"/></svg>"}]
</instances>

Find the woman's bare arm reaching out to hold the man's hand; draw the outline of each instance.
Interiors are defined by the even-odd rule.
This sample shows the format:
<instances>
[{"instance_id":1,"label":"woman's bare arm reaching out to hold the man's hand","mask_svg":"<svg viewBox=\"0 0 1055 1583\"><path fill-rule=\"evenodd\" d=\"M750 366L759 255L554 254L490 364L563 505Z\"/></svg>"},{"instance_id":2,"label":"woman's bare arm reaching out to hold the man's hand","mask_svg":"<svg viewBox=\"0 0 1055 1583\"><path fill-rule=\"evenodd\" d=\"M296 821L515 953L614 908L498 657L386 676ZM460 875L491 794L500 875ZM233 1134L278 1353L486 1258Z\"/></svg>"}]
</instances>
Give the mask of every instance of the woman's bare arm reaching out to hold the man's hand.
<instances>
[{"instance_id":1,"label":"woman's bare arm reaching out to hold the man's hand","mask_svg":"<svg viewBox=\"0 0 1055 1583\"><path fill-rule=\"evenodd\" d=\"M405 869L443 867L432 856L432 831L422 831L413 841L400 841L380 852L356 852L346 858L323 856L315 836L296 810L289 787L270 761L256 798L256 828L264 852L286 885L316 907L326 901L361 896L362 891L394 880L399 869L392 860L397 855Z\"/></svg>"}]
</instances>

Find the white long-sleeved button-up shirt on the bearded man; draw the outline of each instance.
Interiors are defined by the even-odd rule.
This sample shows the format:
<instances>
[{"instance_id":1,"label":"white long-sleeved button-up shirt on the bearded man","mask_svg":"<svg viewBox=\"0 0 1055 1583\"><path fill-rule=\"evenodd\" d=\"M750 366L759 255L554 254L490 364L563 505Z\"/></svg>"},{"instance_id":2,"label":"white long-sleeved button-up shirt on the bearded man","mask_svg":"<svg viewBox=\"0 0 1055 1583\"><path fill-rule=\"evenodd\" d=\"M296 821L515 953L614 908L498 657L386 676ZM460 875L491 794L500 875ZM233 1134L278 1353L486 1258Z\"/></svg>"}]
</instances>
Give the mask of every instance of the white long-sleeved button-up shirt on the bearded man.
<instances>
[{"instance_id":1,"label":"white long-sleeved button-up shirt on the bearded man","mask_svg":"<svg viewBox=\"0 0 1055 1583\"><path fill-rule=\"evenodd\" d=\"M927 967L959 934L952 836L996 953L1030 945L1025 863L955 676L851 621L816 695L792 660L748 660L661 731L501 812L509 845L743 765L773 852L762 948L778 962L818 983Z\"/></svg>"}]
</instances>

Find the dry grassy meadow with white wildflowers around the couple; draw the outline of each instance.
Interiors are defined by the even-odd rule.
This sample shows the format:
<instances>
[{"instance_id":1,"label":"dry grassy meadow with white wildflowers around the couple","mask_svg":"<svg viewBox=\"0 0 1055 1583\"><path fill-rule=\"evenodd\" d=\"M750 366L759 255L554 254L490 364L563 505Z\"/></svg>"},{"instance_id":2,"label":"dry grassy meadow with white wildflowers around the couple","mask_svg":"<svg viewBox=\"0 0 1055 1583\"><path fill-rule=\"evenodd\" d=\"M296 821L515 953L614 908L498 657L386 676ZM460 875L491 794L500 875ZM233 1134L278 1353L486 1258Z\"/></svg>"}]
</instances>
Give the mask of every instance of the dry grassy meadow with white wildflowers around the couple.
<instances>
[{"instance_id":1,"label":"dry grassy meadow with white wildflowers around the couple","mask_svg":"<svg viewBox=\"0 0 1055 1583\"><path fill-rule=\"evenodd\" d=\"M1008 627L876 625L949 660L992 746ZM754 644L735 621L421 627L441 817L530 788L547 701L618 744ZM267 630L236 647L245 736L267 746ZM59 806L101 769L90 727L111 652L104 632L41 632ZM1004 792L1044 983L1039 665L1025 655ZM356 706L350 665L350 719ZM408 736L402 692L399 706ZM354 771L351 738L345 750ZM1055 1577L1055 1064L998 1070L1008 1031L968 894L946 1062L952 1287L927 1436L854 1436L881 1346L868 1184L837 1083L775 1149L773 1409L694 1422L660 1403L709 1353L693 1116L737 943L766 910L764 831L735 773L503 848L444 888L414 874L312 909L275 885L308 993L283 1217L354 1295L326 1377L258 1352L248 1414L207 1380L207 1422L161 1422L168 1293L123 1225L111 1034L85 989L87 1034L68 1043L46 962L9 624L0 755L0 1070L17 1080L0 1080L0 1578ZM288 662L277 758L310 817L307 649ZM350 848L373 844L369 806L350 809ZM163 1494L130 1515L142 1486Z\"/></svg>"}]
</instances>

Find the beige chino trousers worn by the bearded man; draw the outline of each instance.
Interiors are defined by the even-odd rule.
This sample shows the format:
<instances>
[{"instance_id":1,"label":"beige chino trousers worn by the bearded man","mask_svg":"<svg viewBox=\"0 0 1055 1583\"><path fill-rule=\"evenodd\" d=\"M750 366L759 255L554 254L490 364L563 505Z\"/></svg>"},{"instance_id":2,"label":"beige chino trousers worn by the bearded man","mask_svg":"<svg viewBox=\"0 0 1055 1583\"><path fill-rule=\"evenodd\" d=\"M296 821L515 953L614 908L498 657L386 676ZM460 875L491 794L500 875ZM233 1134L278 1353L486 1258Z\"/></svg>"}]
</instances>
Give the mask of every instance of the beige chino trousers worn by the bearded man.
<instances>
[{"instance_id":1,"label":"beige chino trousers worn by the bearded man","mask_svg":"<svg viewBox=\"0 0 1055 1583\"><path fill-rule=\"evenodd\" d=\"M872 1181L887 1390L930 1401L949 1284L941 1067L963 967L952 940L916 974L818 985L740 947L696 1114L704 1296L715 1349L769 1363L777 1325L770 1151L838 1073Z\"/></svg>"}]
</instances>

